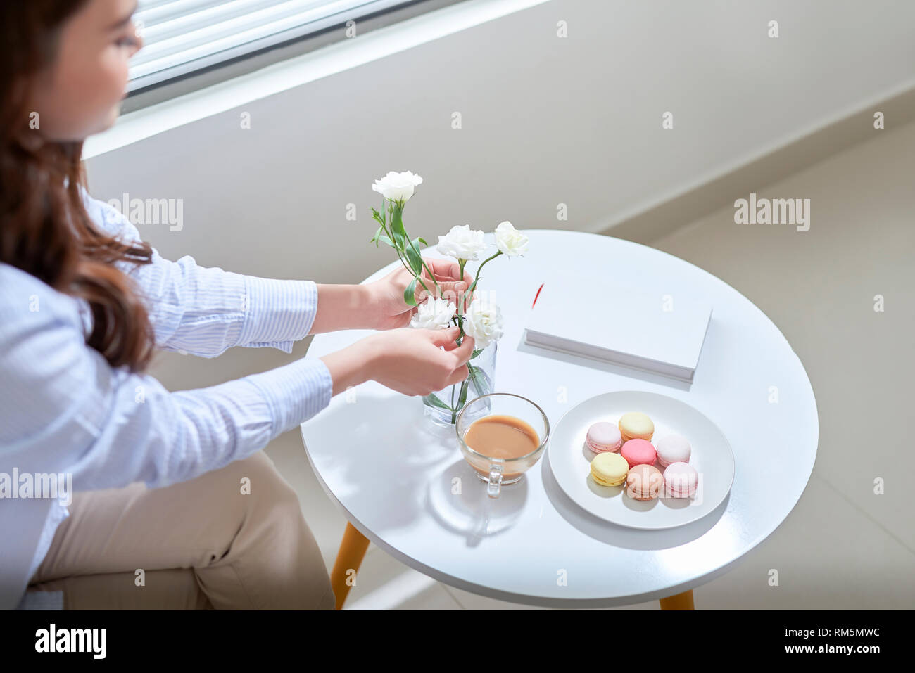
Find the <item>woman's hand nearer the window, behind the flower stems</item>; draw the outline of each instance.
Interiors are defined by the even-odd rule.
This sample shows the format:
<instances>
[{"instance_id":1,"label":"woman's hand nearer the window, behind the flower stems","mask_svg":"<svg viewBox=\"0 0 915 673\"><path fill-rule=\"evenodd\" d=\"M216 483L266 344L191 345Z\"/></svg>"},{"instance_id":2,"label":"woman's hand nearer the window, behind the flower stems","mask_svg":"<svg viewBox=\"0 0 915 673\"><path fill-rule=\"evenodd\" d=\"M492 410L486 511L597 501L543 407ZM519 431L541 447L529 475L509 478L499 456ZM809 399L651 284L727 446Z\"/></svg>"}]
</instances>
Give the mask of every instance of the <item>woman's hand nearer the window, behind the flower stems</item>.
<instances>
[{"instance_id":1,"label":"woman's hand nearer the window, behind the flower stems","mask_svg":"<svg viewBox=\"0 0 915 673\"><path fill-rule=\"evenodd\" d=\"M424 265L422 278L425 286L429 288L429 292L435 293L436 297L454 302L457 306L458 297L473 283L473 277L465 269L463 279L459 278L460 266L457 261L423 259L425 264L436 274L436 281L438 281L439 289L436 290L435 283L429 278L429 272L426 271ZM388 273L382 279L374 283L368 283L372 297L369 310L371 312L371 323L375 329L396 329L410 324L410 320L416 314L416 306L411 306L404 302L404 291L406 286L413 281L413 278L413 274L402 266ZM426 294L420 283L416 283L414 296L416 303L422 304L429 295ZM469 303L470 297L465 297L464 310L466 310ZM462 310L461 313L463 312Z\"/></svg>"}]
</instances>

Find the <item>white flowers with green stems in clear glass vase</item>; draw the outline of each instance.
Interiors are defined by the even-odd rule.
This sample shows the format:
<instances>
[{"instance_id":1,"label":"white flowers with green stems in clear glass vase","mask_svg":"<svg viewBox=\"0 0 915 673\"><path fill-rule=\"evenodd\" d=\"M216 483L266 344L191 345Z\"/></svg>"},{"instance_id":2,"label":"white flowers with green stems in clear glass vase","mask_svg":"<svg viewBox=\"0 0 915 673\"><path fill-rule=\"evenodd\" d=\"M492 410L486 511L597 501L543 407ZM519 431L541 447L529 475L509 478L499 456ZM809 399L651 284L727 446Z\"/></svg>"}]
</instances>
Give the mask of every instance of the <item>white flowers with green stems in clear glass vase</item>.
<instances>
[{"instance_id":1,"label":"white flowers with green stems in clear glass vase","mask_svg":"<svg viewBox=\"0 0 915 673\"><path fill-rule=\"evenodd\" d=\"M404 302L417 307L410 321L411 327L447 329L450 326L459 326L458 345L463 341L465 334L475 340L476 347L467 364L467 379L423 398L425 415L437 424L447 425L457 422L458 413L464 408L468 398L473 400L493 391L496 349L502 337L502 315L497 304L486 301L483 295L476 293L480 272L487 262L500 255L516 257L528 251L528 238L515 230L511 222L501 222L494 231L498 250L479 264L473 283L457 297L458 301L449 301L448 297L443 296L435 274L420 255L420 244L427 246L428 243L418 237L411 239L404 228L404 206L413 197L415 187L422 182L422 177L410 171L392 171L375 180L371 188L382 195L382 210L371 208L372 217L380 225L371 241L376 247L380 242L391 246L407 271L413 275L413 281L404 290ZM446 236L438 237L438 251L458 260L458 278L464 277L464 267L467 263L478 261L486 250L484 236L482 231L471 230L470 226L465 224L452 227ZM424 268L428 272L428 278L423 278ZM421 304L415 299L417 283L423 288L423 292L420 293L423 296ZM433 288L426 283L431 283ZM458 306L465 306L466 297L472 297L472 301L462 313Z\"/></svg>"}]
</instances>

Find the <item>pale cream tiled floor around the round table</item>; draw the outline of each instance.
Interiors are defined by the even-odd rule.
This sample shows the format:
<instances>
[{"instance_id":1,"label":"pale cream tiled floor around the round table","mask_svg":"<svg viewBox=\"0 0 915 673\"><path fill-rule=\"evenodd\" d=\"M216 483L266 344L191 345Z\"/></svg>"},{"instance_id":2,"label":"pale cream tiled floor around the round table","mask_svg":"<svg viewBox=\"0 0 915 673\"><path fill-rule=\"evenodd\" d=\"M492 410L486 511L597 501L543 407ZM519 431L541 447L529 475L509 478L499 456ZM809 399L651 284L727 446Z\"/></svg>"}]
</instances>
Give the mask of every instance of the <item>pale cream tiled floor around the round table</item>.
<instances>
[{"instance_id":1,"label":"pale cream tiled floor around the round table","mask_svg":"<svg viewBox=\"0 0 915 673\"><path fill-rule=\"evenodd\" d=\"M810 198L811 228L737 225L734 208L651 245L734 286L800 356L820 411L801 501L735 569L694 590L697 609L915 607L915 123L859 144L759 197ZM734 198L748 198L738 194ZM885 311L874 311L882 294ZM872 422L873 425L868 425ZM296 487L329 569L345 519L296 432L268 447ZM885 495L875 495L877 477ZM770 569L780 585L770 587ZM528 609L459 591L370 545L347 609ZM658 609L657 602L622 609ZM531 608L542 609L542 608Z\"/></svg>"}]
</instances>

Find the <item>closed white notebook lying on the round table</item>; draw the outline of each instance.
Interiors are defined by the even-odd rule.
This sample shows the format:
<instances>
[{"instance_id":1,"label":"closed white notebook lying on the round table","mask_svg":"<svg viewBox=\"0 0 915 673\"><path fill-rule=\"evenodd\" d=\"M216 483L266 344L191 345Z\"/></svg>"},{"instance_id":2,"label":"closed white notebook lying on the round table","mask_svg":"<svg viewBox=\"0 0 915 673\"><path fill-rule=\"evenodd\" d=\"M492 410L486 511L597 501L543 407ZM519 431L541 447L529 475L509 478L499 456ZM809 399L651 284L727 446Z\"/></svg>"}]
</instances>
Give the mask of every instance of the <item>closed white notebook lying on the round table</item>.
<instances>
[{"instance_id":1,"label":"closed white notebook lying on the round table","mask_svg":"<svg viewBox=\"0 0 915 673\"><path fill-rule=\"evenodd\" d=\"M525 343L693 381L711 304L675 289L665 295L582 281L569 274L544 283L524 325Z\"/></svg>"}]
</instances>

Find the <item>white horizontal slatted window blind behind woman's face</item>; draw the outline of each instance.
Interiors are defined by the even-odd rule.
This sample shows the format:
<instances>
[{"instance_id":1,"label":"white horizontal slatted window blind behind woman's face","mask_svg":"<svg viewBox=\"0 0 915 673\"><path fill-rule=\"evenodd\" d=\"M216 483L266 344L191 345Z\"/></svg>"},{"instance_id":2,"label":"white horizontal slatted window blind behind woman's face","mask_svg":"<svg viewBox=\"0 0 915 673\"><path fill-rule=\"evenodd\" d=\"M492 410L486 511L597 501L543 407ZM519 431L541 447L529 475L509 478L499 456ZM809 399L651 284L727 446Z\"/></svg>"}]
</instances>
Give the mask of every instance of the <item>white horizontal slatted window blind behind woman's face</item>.
<instances>
[{"instance_id":1,"label":"white horizontal slatted window blind behind woman's face","mask_svg":"<svg viewBox=\"0 0 915 673\"><path fill-rule=\"evenodd\" d=\"M134 22L144 47L131 60L127 91L409 4L406 0L139 0Z\"/></svg>"}]
</instances>

